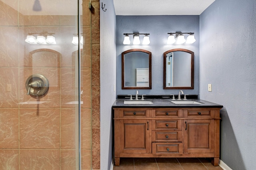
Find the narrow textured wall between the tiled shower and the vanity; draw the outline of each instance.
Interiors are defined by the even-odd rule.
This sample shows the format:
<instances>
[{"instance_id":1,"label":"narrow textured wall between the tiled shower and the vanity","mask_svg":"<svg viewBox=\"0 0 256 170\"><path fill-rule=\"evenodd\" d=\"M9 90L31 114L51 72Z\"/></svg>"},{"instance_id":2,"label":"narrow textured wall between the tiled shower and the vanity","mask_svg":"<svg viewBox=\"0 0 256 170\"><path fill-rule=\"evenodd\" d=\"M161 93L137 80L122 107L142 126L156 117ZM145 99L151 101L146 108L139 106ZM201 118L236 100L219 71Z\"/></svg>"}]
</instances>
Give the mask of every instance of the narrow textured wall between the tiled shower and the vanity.
<instances>
[{"instance_id":1,"label":"narrow textured wall between the tiled shower and the vanity","mask_svg":"<svg viewBox=\"0 0 256 170\"><path fill-rule=\"evenodd\" d=\"M100 8L100 169L109 170L112 160L111 106L116 100L116 15L113 1ZM102 128L103 127L103 128Z\"/></svg>"}]
</instances>

